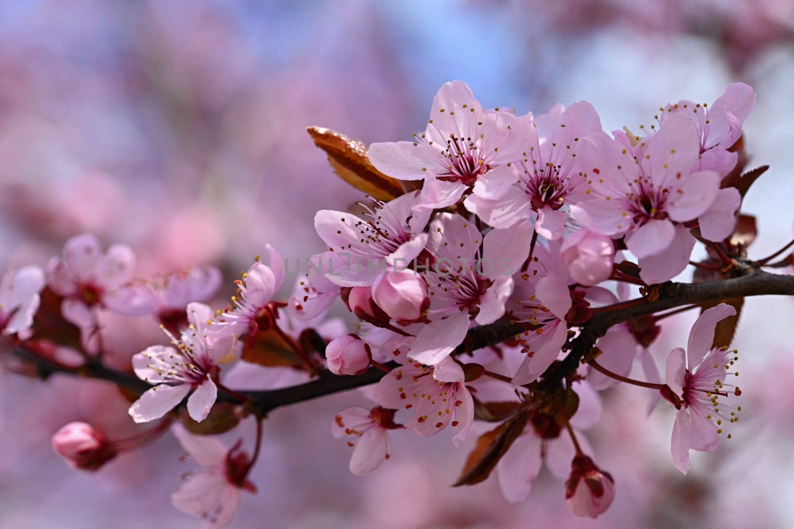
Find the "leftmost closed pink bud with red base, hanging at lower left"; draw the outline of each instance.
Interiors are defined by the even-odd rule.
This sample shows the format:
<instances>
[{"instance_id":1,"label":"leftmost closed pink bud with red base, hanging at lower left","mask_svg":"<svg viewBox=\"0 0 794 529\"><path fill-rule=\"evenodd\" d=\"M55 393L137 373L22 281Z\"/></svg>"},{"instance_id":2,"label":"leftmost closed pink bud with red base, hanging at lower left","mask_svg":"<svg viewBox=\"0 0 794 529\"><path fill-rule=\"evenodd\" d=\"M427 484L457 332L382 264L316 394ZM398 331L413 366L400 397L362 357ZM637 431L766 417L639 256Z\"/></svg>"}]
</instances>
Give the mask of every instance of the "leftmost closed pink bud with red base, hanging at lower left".
<instances>
[{"instance_id":1,"label":"leftmost closed pink bud with red base, hanging at lower left","mask_svg":"<svg viewBox=\"0 0 794 529\"><path fill-rule=\"evenodd\" d=\"M91 424L69 423L52 435L52 448L80 470L97 470L116 457L117 451Z\"/></svg>"}]
</instances>

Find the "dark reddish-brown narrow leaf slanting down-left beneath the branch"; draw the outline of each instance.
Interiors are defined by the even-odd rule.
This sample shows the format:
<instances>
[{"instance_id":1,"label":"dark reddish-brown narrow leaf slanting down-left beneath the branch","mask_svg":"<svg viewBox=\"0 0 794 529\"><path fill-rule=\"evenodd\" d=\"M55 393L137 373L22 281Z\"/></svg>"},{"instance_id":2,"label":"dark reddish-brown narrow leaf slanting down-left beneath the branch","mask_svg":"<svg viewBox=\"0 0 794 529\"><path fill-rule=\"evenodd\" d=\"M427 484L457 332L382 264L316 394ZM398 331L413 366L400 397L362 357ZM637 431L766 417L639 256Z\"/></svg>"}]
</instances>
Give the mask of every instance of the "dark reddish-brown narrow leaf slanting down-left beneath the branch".
<instances>
[{"instance_id":1,"label":"dark reddish-brown narrow leaf slanting down-left beneath the branch","mask_svg":"<svg viewBox=\"0 0 794 529\"><path fill-rule=\"evenodd\" d=\"M517 415L499 424L495 429L480 435L476 447L466 458L466 463L461 470L453 487L461 485L475 485L485 481L491 475L496 463L507 453L518 435L521 435L530 420L530 412L526 409Z\"/></svg>"}]
</instances>

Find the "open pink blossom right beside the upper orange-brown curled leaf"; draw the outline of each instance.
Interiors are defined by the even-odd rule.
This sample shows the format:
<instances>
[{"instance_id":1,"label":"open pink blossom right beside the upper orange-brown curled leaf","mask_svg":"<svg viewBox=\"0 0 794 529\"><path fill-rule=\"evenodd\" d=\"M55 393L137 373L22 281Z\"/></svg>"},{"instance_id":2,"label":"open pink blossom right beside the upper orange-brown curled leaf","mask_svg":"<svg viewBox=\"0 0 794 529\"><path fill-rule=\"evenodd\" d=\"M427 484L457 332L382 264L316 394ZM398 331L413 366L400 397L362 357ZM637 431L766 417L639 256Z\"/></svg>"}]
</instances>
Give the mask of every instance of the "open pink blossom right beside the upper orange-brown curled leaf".
<instances>
[{"instance_id":1,"label":"open pink blossom right beside the upper orange-brown curled leaf","mask_svg":"<svg viewBox=\"0 0 794 529\"><path fill-rule=\"evenodd\" d=\"M379 170L401 180L422 180L423 203L442 208L457 202L483 174L523 157L531 117L485 112L464 82L438 90L425 132L413 141L369 146Z\"/></svg>"}]
</instances>

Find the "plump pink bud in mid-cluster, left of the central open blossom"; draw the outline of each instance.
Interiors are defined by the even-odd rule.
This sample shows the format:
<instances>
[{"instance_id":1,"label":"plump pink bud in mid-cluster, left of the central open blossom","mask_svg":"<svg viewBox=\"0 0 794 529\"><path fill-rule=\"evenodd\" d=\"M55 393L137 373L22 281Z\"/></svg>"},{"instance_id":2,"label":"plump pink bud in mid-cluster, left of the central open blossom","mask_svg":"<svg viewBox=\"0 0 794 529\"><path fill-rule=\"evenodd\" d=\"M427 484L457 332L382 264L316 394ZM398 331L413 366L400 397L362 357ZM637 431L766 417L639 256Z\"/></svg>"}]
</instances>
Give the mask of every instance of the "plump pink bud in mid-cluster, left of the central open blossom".
<instances>
[{"instance_id":1,"label":"plump pink bud in mid-cluster, left of the central open blossom","mask_svg":"<svg viewBox=\"0 0 794 529\"><path fill-rule=\"evenodd\" d=\"M430 306L424 278L412 270L389 270L372 285L372 297L399 324L422 319Z\"/></svg>"}]
</instances>

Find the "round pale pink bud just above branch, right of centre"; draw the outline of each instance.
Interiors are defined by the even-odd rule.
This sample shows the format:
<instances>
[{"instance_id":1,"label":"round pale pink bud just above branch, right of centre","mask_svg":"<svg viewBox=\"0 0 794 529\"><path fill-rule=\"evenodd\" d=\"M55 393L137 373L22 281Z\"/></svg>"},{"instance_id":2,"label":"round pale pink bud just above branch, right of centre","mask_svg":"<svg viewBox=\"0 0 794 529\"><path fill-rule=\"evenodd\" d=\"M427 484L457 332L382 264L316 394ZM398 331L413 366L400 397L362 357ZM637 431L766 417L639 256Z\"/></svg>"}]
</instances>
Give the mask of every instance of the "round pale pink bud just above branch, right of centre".
<instances>
[{"instance_id":1,"label":"round pale pink bud just above branch, right of centre","mask_svg":"<svg viewBox=\"0 0 794 529\"><path fill-rule=\"evenodd\" d=\"M615 244L607 236L580 229L563 241L560 256L574 281L592 286L611 276Z\"/></svg>"}]
</instances>

